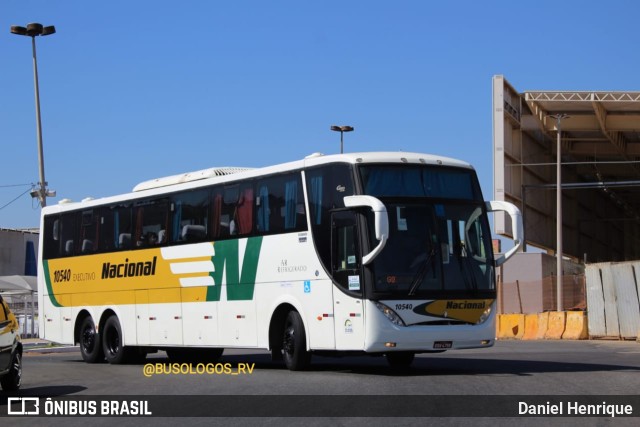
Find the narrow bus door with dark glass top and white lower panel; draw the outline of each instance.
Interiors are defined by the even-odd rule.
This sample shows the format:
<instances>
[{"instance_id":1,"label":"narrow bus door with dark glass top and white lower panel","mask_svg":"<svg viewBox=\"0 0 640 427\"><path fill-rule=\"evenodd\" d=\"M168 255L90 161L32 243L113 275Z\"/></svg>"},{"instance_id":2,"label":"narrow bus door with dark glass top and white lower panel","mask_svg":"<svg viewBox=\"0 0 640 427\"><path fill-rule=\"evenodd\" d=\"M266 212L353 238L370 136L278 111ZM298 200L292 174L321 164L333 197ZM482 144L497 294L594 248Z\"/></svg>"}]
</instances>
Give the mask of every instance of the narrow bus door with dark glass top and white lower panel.
<instances>
[{"instance_id":1,"label":"narrow bus door with dark glass top and white lower panel","mask_svg":"<svg viewBox=\"0 0 640 427\"><path fill-rule=\"evenodd\" d=\"M364 288L357 214L336 211L331 218L331 269L333 316L337 350L362 350L364 346Z\"/></svg>"}]
</instances>

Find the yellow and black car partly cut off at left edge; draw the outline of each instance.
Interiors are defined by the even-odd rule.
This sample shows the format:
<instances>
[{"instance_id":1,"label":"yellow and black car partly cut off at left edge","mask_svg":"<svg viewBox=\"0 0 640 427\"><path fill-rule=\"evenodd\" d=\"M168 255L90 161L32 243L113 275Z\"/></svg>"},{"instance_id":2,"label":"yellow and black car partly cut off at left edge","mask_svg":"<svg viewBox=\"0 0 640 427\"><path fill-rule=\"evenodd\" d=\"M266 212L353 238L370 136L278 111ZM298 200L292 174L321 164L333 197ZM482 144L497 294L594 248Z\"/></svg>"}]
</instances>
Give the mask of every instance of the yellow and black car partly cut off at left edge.
<instances>
[{"instance_id":1,"label":"yellow and black car partly cut off at left edge","mask_svg":"<svg viewBox=\"0 0 640 427\"><path fill-rule=\"evenodd\" d=\"M17 390L22 381L22 342L16 316L0 295L0 385Z\"/></svg>"}]
</instances>

